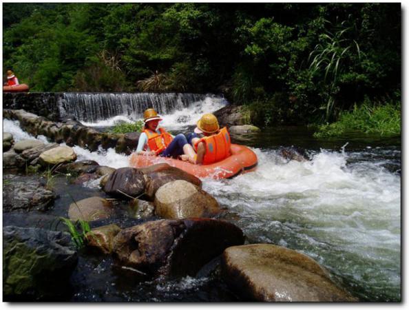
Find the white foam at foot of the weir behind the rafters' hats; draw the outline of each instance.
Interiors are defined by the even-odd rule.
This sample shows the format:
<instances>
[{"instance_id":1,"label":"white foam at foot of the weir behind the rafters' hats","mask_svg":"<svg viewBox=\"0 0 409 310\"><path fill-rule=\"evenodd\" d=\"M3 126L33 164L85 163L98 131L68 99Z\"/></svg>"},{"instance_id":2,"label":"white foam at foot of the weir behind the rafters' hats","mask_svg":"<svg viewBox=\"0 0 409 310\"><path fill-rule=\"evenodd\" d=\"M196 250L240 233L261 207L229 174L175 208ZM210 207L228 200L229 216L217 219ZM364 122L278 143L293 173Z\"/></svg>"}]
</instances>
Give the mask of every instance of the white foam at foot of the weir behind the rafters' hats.
<instances>
[{"instance_id":1,"label":"white foam at foot of the weir behind the rafters' hats","mask_svg":"<svg viewBox=\"0 0 409 310\"><path fill-rule=\"evenodd\" d=\"M187 129L188 126L196 125L196 122L199 120L202 114L215 112L225 105L227 105L227 101L225 99L214 98L211 96L207 96L202 101L191 103L189 107L184 107L184 105L180 102L180 104L177 105L176 110L173 112L160 115L162 117L160 125L167 128L167 130L184 130ZM143 119L143 115L118 115L96 123L82 123L83 125L90 127L110 127L119 122L132 123L138 119Z\"/></svg>"}]
</instances>

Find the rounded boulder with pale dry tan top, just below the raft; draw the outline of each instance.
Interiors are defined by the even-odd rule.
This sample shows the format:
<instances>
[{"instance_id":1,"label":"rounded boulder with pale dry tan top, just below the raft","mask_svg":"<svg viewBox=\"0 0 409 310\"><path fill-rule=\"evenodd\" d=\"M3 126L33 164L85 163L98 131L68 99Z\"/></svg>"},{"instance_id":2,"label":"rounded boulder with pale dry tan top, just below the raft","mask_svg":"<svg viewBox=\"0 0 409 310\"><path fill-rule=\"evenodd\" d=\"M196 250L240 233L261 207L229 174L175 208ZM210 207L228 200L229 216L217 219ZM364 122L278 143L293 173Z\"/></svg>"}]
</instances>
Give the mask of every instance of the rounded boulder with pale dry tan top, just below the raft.
<instances>
[{"instance_id":1,"label":"rounded boulder with pale dry tan top, just below the raft","mask_svg":"<svg viewBox=\"0 0 409 310\"><path fill-rule=\"evenodd\" d=\"M215 198L185 180L162 185L155 194L155 212L162 218L202 218L220 212Z\"/></svg>"}]
</instances>

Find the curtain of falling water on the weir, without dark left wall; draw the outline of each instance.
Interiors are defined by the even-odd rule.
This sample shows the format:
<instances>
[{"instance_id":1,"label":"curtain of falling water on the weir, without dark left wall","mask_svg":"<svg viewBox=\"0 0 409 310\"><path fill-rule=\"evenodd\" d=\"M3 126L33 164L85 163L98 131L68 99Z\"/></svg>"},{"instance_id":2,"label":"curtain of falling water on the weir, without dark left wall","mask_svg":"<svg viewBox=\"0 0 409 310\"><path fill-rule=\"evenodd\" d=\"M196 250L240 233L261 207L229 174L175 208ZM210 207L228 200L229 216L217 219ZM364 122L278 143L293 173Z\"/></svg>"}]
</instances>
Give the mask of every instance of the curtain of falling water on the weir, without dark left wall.
<instances>
[{"instance_id":1,"label":"curtain of falling water on the weir, without dark left wall","mask_svg":"<svg viewBox=\"0 0 409 310\"><path fill-rule=\"evenodd\" d=\"M153 107L159 114L169 114L189 107L207 97L220 96L181 93L64 93L59 101L60 114L74 115L78 121L96 123L114 116L140 118Z\"/></svg>"}]
</instances>

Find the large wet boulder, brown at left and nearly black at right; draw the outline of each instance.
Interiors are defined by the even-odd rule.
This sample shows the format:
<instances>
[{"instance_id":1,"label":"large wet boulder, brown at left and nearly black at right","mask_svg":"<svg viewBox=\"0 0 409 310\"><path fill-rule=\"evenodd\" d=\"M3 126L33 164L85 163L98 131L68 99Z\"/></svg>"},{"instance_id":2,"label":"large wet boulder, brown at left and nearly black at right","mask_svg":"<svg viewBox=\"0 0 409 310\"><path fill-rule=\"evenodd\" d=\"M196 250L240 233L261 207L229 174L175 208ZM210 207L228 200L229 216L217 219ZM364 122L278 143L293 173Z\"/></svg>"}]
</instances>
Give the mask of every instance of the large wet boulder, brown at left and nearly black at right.
<instances>
[{"instance_id":1,"label":"large wet boulder, brown at left and nearly black at right","mask_svg":"<svg viewBox=\"0 0 409 310\"><path fill-rule=\"evenodd\" d=\"M164 276L194 276L232 245L242 245L240 228L222 220L156 220L120 231L113 251L125 265Z\"/></svg>"}]
</instances>

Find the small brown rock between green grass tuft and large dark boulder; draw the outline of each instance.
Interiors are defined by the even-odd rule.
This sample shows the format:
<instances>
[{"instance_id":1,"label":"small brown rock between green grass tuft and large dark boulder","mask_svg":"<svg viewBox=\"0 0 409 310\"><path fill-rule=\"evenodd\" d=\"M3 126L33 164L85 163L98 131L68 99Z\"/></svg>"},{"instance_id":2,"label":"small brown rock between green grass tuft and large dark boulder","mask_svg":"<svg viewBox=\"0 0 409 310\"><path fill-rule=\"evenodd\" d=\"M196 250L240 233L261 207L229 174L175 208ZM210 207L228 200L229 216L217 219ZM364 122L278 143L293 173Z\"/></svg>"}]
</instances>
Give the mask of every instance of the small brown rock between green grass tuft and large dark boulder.
<instances>
[{"instance_id":1,"label":"small brown rock between green grass tuft and large dark boulder","mask_svg":"<svg viewBox=\"0 0 409 310\"><path fill-rule=\"evenodd\" d=\"M120 227L115 224L101 226L87 233L87 245L96 247L105 254L112 253L112 245Z\"/></svg>"}]
</instances>

